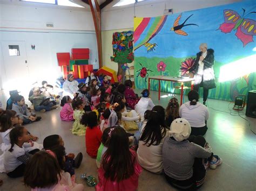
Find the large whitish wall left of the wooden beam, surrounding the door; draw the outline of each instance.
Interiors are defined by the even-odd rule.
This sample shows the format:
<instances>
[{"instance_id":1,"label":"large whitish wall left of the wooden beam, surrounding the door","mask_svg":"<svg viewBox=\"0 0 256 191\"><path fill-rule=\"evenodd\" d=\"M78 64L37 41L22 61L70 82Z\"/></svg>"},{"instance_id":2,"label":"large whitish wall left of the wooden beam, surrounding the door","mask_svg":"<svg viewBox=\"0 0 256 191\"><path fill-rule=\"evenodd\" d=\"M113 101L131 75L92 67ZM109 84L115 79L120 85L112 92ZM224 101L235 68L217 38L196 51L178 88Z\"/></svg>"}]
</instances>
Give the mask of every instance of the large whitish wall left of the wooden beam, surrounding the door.
<instances>
[{"instance_id":1,"label":"large whitish wall left of the wooden beam, surrounding the door","mask_svg":"<svg viewBox=\"0 0 256 191\"><path fill-rule=\"evenodd\" d=\"M91 12L81 8L35 3L23 5L24 2L13 1L13 4L0 4L0 43L25 41L31 79L47 80L61 76L56 53L71 52L71 48L90 48L89 63L98 68ZM46 27L46 23L52 23L54 27ZM36 46L35 50L31 45ZM5 77L1 47L0 57L1 89Z\"/></svg>"}]
</instances>

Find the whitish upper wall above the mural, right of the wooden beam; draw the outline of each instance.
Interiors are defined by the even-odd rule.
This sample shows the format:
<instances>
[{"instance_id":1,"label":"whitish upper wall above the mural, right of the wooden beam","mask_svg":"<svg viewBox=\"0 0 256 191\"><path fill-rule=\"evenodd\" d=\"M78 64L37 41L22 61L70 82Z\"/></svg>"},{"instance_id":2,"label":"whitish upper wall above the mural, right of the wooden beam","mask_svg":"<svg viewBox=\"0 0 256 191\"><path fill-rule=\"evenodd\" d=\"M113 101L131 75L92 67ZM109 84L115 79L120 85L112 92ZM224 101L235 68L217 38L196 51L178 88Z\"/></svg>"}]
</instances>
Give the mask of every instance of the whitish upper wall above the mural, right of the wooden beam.
<instances>
[{"instance_id":1,"label":"whitish upper wall above the mural, right of the wooden beam","mask_svg":"<svg viewBox=\"0 0 256 191\"><path fill-rule=\"evenodd\" d=\"M152 1L152 0L151 0ZM165 9L173 9L173 13L203 9L211 6L224 5L241 0L168 0L139 2L112 8L111 3L102 11L102 30L126 29L133 27L133 17L156 17L164 15Z\"/></svg>"}]
</instances>

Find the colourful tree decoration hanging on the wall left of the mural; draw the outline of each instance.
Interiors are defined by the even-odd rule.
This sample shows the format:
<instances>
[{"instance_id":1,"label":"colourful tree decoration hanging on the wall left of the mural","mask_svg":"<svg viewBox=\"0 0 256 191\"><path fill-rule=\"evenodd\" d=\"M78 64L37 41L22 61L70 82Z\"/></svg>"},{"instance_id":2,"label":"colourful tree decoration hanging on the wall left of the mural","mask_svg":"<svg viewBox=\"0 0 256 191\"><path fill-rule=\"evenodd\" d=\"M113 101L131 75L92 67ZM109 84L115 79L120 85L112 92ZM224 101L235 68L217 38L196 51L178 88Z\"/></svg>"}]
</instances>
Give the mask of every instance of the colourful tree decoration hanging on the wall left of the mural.
<instances>
[{"instance_id":1,"label":"colourful tree decoration hanging on the wall left of the mural","mask_svg":"<svg viewBox=\"0 0 256 191\"><path fill-rule=\"evenodd\" d=\"M111 56L110 59L118 64L117 77L119 81L125 76L127 63L131 63L134 60L132 42L132 31L113 33L113 56Z\"/></svg>"}]
</instances>

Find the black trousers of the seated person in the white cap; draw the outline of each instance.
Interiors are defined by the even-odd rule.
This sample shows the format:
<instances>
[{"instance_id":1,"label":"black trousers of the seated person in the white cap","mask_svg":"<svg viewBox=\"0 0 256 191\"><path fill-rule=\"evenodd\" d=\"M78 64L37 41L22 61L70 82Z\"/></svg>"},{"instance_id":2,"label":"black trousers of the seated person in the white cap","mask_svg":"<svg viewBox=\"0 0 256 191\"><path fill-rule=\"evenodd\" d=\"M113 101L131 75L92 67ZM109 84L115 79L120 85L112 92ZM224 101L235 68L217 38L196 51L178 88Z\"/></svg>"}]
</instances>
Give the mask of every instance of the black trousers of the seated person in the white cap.
<instances>
[{"instance_id":1,"label":"black trousers of the seated person in the white cap","mask_svg":"<svg viewBox=\"0 0 256 191\"><path fill-rule=\"evenodd\" d=\"M189 142L192 142L194 144L200 145L201 147L204 147L206 144L206 140L202 136L190 136L187 139ZM211 160L213 156L213 153L211 157L209 157L206 160ZM193 176L190 179L187 180L176 180L171 178L170 176L165 174L165 178L167 182L173 186L174 188L181 189L181 190L197 190L200 188L205 179L206 175L206 169L204 167L205 159L201 158L195 158L194 164L193 164Z\"/></svg>"}]
</instances>

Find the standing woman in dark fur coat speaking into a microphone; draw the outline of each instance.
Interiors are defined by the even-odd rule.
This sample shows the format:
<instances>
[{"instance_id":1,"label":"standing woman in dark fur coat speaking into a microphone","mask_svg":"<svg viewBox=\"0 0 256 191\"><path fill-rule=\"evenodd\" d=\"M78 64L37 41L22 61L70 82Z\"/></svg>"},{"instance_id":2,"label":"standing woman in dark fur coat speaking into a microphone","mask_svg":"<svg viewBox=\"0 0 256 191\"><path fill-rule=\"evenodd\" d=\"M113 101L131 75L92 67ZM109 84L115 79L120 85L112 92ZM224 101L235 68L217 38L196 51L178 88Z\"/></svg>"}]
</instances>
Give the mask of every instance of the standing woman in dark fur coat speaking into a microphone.
<instances>
[{"instance_id":1,"label":"standing woman in dark fur coat speaking into a microphone","mask_svg":"<svg viewBox=\"0 0 256 191\"><path fill-rule=\"evenodd\" d=\"M198 91L199 87L203 87L203 103L206 104L209 89L216 88L215 77L213 71L214 51L207 49L207 44L202 43L199 46L201 52L197 53L197 59L192 70L194 70L194 90Z\"/></svg>"}]
</instances>

